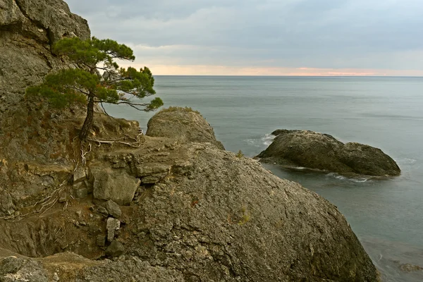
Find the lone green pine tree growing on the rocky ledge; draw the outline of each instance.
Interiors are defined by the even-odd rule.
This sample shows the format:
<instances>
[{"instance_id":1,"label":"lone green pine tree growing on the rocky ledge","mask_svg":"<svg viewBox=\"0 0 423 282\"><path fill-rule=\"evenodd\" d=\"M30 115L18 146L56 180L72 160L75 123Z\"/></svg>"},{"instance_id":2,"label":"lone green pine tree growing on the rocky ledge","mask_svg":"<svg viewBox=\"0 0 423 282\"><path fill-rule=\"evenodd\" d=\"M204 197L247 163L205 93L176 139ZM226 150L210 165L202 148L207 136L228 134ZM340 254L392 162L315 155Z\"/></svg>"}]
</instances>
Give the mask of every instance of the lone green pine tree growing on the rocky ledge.
<instances>
[{"instance_id":1,"label":"lone green pine tree growing on the rocky ledge","mask_svg":"<svg viewBox=\"0 0 423 282\"><path fill-rule=\"evenodd\" d=\"M140 111L152 111L163 105L160 98L151 102L135 103L130 98L140 99L154 95L154 78L149 68L137 71L129 67L119 68L116 59L134 61L133 50L111 39L81 40L78 37L64 38L54 44L52 51L66 56L73 68L47 75L40 85L28 87L27 95L47 97L56 107L80 103L87 106L87 116L80 131L80 139L87 139L94 121L94 104L128 104Z\"/></svg>"}]
</instances>

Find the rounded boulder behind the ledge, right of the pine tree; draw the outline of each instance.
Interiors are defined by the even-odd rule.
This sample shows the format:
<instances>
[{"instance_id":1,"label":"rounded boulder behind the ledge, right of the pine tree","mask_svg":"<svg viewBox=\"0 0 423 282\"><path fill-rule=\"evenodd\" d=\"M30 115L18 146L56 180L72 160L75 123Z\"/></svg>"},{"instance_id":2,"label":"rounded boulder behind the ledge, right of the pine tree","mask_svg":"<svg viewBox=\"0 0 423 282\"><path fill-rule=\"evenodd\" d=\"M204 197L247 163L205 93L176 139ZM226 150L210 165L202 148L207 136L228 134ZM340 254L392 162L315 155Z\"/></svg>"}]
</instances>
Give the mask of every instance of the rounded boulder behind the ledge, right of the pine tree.
<instances>
[{"instance_id":1,"label":"rounded boulder behind the ledge, right of the pine tree","mask_svg":"<svg viewBox=\"0 0 423 282\"><path fill-rule=\"evenodd\" d=\"M147 126L147 136L175 138L179 142L209 142L219 149L225 149L216 140L212 126L191 108L163 109L150 118Z\"/></svg>"}]
</instances>

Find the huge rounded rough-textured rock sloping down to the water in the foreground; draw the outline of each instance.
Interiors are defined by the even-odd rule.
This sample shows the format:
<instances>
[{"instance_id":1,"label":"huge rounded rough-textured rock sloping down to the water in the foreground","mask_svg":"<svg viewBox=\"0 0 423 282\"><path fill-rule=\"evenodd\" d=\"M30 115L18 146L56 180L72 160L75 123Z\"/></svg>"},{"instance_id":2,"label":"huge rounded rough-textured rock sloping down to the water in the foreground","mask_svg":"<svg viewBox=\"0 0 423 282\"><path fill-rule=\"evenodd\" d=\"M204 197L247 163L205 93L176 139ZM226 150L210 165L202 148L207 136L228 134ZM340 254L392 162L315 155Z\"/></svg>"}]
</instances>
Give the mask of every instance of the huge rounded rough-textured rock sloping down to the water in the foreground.
<instances>
[{"instance_id":1,"label":"huge rounded rough-textured rock sloping down to the water in the foreground","mask_svg":"<svg viewBox=\"0 0 423 282\"><path fill-rule=\"evenodd\" d=\"M119 237L126 252L194 281L378 281L344 216L316 193L207 143L168 158L181 169L140 191L137 231Z\"/></svg>"}]
</instances>

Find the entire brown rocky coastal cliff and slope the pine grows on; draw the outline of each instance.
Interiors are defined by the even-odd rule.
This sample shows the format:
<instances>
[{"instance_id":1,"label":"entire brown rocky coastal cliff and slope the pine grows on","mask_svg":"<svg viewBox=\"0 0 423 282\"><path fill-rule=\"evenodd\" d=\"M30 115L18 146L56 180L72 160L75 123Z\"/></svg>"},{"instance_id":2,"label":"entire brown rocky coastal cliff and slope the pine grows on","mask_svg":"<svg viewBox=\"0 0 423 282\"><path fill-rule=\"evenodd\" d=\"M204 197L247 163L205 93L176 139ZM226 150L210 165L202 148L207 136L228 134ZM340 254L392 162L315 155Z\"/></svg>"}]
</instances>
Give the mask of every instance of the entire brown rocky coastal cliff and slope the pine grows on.
<instances>
[{"instance_id":1,"label":"entire brown rocky coastal cliff and slope the pine grows on","mask_svg":"<svg viewBox=\"0 0 423 282\"><path fill-rule=\"evenodd\" d=\"M51 42L88 36L85 21L62 1L0 8L0 48L39 70L0 61L0 281L378 281L336 207L224 151L200 115L160 130L180 114L159 113L150 137L97 114L81 145L82 117L21 97L65 66Z\"/></svg>"}]
</instances>

